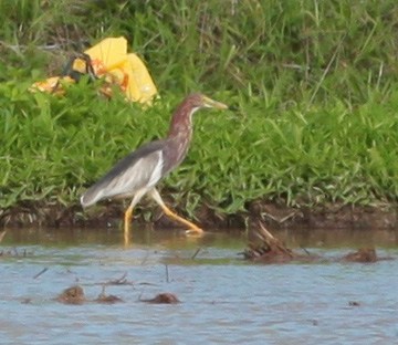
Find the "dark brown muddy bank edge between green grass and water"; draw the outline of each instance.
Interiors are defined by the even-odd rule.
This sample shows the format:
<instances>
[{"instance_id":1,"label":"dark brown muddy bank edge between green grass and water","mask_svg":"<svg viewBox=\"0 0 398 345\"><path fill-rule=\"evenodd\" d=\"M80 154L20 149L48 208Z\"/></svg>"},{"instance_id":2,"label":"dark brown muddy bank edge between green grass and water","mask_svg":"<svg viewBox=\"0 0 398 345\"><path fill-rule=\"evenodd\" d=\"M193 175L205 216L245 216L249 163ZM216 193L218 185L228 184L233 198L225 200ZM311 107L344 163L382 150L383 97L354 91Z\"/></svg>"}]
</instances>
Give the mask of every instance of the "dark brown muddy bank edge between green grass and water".
<instances>
[{"instance_id":1,"label":"dark brown muddy bank edge between green grass and water","mask_svg":"<svg viewBox=\"0 0 398 345\"><path fill-rule=\"evenodd\" d=\"M202 228L244 229L256 227L262 220L270 229L397 229L397 205L384 207L359 207L327 203L313 208L293 208L285 205L254 201L247 206L247 212L217 215L202 207L196 213L196 222ZM178 209L177 209L178 211ZM122 203L109 202L84 210L80 206L66 208L62 205L41 202L25 203L8 210L0 210L0 226L22 227L38 224L45 227L116 227L123 219ZM180 215L184 215L179 210ZM148 216L149 215L149 216ZM149 220L148 220L149 219ZM137 208L134 221L161 228L176 228L178 223L165 217L160 208L144 205Z\"/></svg>"}]
</instances>

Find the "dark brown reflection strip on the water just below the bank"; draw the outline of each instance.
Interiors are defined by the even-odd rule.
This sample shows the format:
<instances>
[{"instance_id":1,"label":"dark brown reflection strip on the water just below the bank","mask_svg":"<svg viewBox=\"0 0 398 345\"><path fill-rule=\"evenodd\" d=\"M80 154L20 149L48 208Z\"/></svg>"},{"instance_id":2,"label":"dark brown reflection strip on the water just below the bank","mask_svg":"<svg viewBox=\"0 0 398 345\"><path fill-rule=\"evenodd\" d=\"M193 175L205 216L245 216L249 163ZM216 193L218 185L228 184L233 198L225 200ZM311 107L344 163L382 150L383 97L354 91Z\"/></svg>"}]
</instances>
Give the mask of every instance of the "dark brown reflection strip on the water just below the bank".
<instances>
[{"instance_id":1,"label":"dark brown reflection strip on the water just below the bank","mask_svg":"<svg viewBox=\"0 0 398 345\"><path fill-rule=\"evenodd\" d=\"M398 245L397 230L272 230L272 233L291 248L365 248ZM249 237L251 238L251 237ZM208 231L203 238L187 238L179 229L151 230L136 227L132 233L132 245L165 244L212 245L241 248L248 242L244 231ZM22 228L8 229L3 245L122 245L123 232L115 228Z\"/></svg>"}]
</instances>

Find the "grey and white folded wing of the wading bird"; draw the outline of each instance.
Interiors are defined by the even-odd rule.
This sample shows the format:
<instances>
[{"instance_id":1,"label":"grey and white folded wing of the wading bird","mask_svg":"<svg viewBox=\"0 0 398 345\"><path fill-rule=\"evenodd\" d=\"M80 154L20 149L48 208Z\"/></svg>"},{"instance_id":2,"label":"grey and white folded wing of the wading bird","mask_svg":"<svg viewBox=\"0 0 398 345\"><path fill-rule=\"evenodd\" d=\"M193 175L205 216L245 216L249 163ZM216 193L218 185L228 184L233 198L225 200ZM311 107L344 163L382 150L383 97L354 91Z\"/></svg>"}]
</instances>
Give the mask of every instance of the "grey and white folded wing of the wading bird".
<instances>
[{"instance_id":1,"label":"grey and white folded wing of the wading bird","mask_svg":"<svg viewBox=\"0 0 398 345\"><path fill-rule=\"evenodd\" d=\"M163 177L163 140L151 142L121 159L82 196L84 207L101 199L134 195L155 186Z\"/></svg>"}]
</instances>

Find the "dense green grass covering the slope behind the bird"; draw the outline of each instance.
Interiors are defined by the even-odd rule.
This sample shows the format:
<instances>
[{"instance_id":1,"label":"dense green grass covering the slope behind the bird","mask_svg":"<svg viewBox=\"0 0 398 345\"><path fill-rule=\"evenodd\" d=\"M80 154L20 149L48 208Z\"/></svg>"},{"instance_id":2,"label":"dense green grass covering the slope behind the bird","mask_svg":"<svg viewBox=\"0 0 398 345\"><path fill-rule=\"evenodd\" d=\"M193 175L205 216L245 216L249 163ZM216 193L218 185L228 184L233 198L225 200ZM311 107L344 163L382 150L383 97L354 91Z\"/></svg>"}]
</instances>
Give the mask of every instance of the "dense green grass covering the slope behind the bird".
<instances>
[{"instance_id":1,"label":"dense green grass covering the slope behind the bird","mask_svg":"<svg viewBox=\"0 0 398 345\"><path fill-rule=\"evenodd\" d=\"M166 134L191 91L241 114L195 115L161 184L190 216L262 199L380 205L398 195L398 4L386 1L0 0L0 217L71 207L119 157ZM30 94L69 54L125 35L161 98L143 111L83 80Z\"/></svg>"}]
</instances>

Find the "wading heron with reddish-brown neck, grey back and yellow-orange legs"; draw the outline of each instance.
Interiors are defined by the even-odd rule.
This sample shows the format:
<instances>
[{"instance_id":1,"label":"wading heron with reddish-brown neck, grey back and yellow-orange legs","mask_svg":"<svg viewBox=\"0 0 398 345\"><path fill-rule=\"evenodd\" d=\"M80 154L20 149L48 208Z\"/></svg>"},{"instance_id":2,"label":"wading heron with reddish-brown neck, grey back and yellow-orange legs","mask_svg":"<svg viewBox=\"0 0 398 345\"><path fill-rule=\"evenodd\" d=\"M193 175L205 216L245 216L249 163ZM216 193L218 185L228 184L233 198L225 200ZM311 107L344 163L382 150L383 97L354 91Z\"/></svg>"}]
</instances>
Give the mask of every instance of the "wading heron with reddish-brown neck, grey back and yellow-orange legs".
<instances>
[{"instance_id":1,"label":"wading heron with reddish-brown neck, grey back and yellow-orange legs","mask_svg":"<svg viewBox=\"0 0 398 345\"><path fill-rule=\"evenodd\" d=\"M155 186L187 155L192 137L192 114L203 107L237 111L200 93L189 95L174 112L167 137L148 143L121 159L86 190L81 198L82 206L88 207L102 199L133 198L124 216L125 241L128 241L133 209L145 195L149 195L167 216L189 228L187 233L202 233L203 230L195 223L172 212Z\"/></svg>"}]
</instances>

